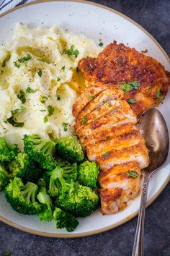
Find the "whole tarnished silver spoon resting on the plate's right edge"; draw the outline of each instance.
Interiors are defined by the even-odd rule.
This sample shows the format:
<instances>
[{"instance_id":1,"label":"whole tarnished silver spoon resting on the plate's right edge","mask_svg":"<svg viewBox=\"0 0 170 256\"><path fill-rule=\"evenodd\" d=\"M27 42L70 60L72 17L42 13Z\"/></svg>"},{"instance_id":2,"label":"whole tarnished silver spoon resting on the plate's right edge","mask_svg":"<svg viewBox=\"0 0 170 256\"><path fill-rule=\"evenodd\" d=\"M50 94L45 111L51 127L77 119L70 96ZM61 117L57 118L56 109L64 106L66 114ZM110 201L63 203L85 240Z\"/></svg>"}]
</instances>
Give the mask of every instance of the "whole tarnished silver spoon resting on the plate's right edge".
<instances>
[{"instance_id":1,"label":"whole tarnished silver spoon resting on the plate's right edge","mask_svg":"<svg viewBox=\"0 0 170 256\"><path fill-rule=\"evenodd\" d=\"M148 183L153 172L158 170L158 168L160 168L165 163L169 153L169 132L166 127L166 121L158 109L149 108L140 117L138 128L146 140L146 146L149 150L151 163L147 168L144 169L143 189L140 200L138 223L135 232L135 242L133 244L132 256L144 255L144 221Z\"/></svg>"}]
</instances>

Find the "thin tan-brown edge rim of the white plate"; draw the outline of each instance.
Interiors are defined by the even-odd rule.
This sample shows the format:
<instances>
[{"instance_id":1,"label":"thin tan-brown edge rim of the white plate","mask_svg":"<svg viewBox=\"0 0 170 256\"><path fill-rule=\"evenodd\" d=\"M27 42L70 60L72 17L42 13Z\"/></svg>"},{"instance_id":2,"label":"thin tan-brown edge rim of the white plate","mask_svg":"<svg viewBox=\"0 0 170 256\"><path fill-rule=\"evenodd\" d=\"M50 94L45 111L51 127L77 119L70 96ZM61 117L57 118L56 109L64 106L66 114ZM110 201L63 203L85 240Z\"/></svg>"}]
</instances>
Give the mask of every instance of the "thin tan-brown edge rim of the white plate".
<instances>
[{"instance_id":1,"label":"thin tan-brown edge rim of the white plate","mask_svg":"<svg viewBox=\"0 0 170 256\"><path fill-rule=\"evenodd\" d=\"M6 14L9 14L11 12L16 11L17 9L22 9L24 7L28 7L30 5L34 5L34 4L40 4L40 3L45 3L45 2L58 2L58 1L68 1L68 2L77 2L77 3L83 3L83 4L90 4L90 5L94 5L96 7L100 7L102 9L107 9L109 12L113 12L115 14L118 14L119 16L125 18L125 20L128 20L129 22L133 23L133 25L135 25L136 27L138 27L140 30L143 31L143 33L145 33L146 35L148 35L149 38L151 38L151 40L153 40L154 43L156 43L156 46L158 46L158 48L161 50L162 54L164 54L164 56L166 57L167 61L170 64L170 59L169 56L166 54L166 52L164 51L164 48L161 47L161 45L157 42L157 40L155 38L153 38L153 35L151 35L150 33L148 33L148 31L146 29L144 29L141 25L139 25L137 22L135 22L134 20L132 20L130 17L126 16L125 14L122 14L121 12L116 11L115 9L112 9L111 7L106 7L102 4L98 4L95 2L91 2L91 1L86 1L86 0L37 0L37 1L32 1L30 3L27 4L22 4L18 7L14 7L12 9L9 9L6 12L3 12L2 14L0 14L0 18L4 17ZM149 205L151 205L151 203L156 200L156 198L158 197L158 195L161 194L161 192L163 191L163 189L166 187L166 185L169 183L169 179L170 179L170 175L166 178L166 181L161 185L161 187L158 189L158 191L156 192L155 195L153 195L153 197L151 197L150 200L148 200L147 202L147 207ZM123 223L126 223L128 221L130 221L132 218L134 218L135 216L138 215L138 210L135 211L135 213L130 214L130 216L127 216L125 218L122 219L122 221L118 221L115 224L109 225L107 227L104 227L102 229L96 229L94 231L88 231L88 232L84 232L84 233L77 233L77 234L55 234L55 233L49 233L49 232L44 232L44 231L36 231L34 229L29 229L26 228L22 225L19 225L17 223L14 223L13 221L9 221L8 219L0 216L0 221L8 224L9 226L14 227L15 229L19 229L21 231L25 231L28 232L30 234L35 234L35 235L39 235L39 236L48 236L48 237L58 237L58 238L76 238L76 237L83 237L83 236L91 236L94 234L99 234L102 233L104 231L109 231L110 229L114 229L117 226L122 225Z\"/></svg>"}]
</instances>

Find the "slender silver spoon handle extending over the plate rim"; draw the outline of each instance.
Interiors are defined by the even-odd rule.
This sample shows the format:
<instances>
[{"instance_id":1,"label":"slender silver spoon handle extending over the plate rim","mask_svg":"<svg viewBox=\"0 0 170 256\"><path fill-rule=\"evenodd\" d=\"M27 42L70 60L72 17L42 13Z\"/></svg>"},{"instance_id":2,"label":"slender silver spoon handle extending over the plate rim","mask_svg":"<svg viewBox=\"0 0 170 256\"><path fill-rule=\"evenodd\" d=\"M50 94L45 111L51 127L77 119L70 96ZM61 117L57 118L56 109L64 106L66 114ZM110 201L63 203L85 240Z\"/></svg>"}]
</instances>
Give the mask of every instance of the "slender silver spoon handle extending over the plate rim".
<instances>
[{"instance_id":1,"label":"slender silver spoon handle extending over the plate rim","mask_svg":"<svg viewBox=\"0 0 170 256\"><path fill-rule=\"evenodd\" d=\"M147 201L147 192L148 192L148 182L150 175L145 172L144 181L143 181L143 190L140 199L140 208L138 213L138 223L135 232L135 241L133 244L133 253L132 256L143 256L143 240L144 240L144 222L145 222L145 213L146 213L146 201Z\"/></svg>"}]
</instances>

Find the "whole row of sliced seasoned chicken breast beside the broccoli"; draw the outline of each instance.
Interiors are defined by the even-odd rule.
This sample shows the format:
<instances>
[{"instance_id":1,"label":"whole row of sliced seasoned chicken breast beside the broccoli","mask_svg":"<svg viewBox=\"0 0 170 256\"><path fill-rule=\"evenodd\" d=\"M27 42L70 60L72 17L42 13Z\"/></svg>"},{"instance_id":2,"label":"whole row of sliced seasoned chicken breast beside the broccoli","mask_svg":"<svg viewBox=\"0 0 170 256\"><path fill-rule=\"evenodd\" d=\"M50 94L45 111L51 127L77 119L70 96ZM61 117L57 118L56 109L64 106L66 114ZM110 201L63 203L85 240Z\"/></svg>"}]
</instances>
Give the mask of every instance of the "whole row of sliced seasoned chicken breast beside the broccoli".
<instances>
[{"instance_id":1,"label":"whole row of sliced seasoned chicken breast beside the broccoli","mask_svg":"<svg viewBox=\"0 0 170 256\"><path fill-rule=\"evenodd\" d=\"M75 132L89 161L99 164L103 214L117 213L138 196L148 150L135 124L137 118L112 85L89 86L73 104Z\"/></svg>"}]
</instances>

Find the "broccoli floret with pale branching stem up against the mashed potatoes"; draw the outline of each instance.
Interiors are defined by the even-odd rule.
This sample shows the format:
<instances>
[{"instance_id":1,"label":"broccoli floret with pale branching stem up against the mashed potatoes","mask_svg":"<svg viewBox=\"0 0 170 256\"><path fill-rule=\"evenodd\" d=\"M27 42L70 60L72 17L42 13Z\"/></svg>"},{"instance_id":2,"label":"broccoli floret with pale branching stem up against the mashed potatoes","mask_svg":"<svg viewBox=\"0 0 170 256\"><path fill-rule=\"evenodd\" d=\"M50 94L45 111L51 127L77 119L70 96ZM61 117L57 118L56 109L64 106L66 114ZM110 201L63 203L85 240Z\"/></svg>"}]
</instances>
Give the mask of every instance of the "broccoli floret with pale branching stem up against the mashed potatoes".
<instances>
[{"instance_id":1,"label":"broccoli floret with pale branching stem up against the mashed potatoes","mask_svg":"<svg viewBox=\"0 0 170 256\"><path fill-rule=\"evenodd\" d=\"M49 171L55 168L53 153L55 142L39 135L24 135L24 151L30 155L34 161Z\"/></svg>"}]
</instances>

